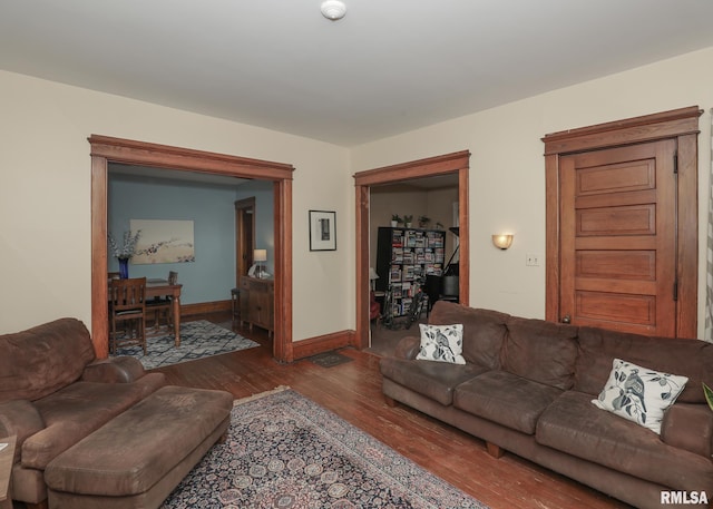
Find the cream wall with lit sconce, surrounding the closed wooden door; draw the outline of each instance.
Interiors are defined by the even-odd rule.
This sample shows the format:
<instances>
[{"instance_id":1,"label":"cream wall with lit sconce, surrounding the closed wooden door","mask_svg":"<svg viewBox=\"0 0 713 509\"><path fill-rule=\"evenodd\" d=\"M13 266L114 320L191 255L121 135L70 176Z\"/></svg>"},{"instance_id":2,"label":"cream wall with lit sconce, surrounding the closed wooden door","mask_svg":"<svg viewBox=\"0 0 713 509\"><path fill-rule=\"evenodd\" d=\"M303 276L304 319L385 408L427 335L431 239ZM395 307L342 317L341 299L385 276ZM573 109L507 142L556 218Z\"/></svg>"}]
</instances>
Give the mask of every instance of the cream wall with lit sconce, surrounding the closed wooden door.
<instances>
[{"instance_id":1,"label":"cream wall with lit sconce, surrounding the closed wooden door","mask_svg":"<svg viewBox=\"0 0 713 509\"><path fill-rule=\"evenodd\" d=\"M470 304L514 314L545 314L545 165L540 138L569 128L697 105L700 119L699 330L703 332L705 221L711 167L710 109L713 48L607 78L553 90L476 115L360 146L354 172L468 149L470 157ZM496 249L490 236L509 231L512 247Z\"/></svg>"}]
</instances>

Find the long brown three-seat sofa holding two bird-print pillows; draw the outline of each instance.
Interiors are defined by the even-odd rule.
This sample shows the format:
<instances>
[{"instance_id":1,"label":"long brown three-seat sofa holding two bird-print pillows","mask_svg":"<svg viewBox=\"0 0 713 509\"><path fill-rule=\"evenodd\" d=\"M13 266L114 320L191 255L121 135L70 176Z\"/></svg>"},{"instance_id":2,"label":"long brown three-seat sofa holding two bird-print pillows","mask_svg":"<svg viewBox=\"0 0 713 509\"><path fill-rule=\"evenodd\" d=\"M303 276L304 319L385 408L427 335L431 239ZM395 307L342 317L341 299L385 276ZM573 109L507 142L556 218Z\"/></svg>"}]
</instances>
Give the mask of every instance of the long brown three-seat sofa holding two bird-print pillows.
<instances>
[{"instance_id":1,"label":"long brown three-seat sofa holding two bird-print pillows","mask_svg":"<svg viewBox=\"0 0 713 509\"><path fill-rule=\"evenodd\" d=\"M429 324L458 323L466 364L416 360L419 337L380 361L390 404L469 432L495 457L510 451L635 507L713 499L713 412L702 391L713 382L713 344L436 303ZM592 403L614 359L688 378L661 434Z\"/></svg>"}]
</instances>

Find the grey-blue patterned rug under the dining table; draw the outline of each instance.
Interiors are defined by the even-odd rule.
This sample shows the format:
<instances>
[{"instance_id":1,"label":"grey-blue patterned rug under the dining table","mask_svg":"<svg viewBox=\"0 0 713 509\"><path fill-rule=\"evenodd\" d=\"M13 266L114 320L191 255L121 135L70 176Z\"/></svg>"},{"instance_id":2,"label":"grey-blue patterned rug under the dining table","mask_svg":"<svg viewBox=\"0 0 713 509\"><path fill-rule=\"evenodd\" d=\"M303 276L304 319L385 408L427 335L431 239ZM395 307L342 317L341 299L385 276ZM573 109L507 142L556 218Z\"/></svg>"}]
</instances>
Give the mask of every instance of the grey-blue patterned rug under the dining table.
<instances>
[{"instance_id":1,"label":"grey-blue patterned rug under the dining table","mask_svg":"<svg viewBox=\"0 0 713 509\"><path fill-rule=\"evenodd\" d=\"M119 348L116 355L135 356L141 361L145 369L153 370L254 346L260 346L260 343L206 320L198 320L180 324L180 346L178 348L175 345L174 335L166 334L149 336L146 340L146 355L138 345Z\"/></svg>"}]
</instances>

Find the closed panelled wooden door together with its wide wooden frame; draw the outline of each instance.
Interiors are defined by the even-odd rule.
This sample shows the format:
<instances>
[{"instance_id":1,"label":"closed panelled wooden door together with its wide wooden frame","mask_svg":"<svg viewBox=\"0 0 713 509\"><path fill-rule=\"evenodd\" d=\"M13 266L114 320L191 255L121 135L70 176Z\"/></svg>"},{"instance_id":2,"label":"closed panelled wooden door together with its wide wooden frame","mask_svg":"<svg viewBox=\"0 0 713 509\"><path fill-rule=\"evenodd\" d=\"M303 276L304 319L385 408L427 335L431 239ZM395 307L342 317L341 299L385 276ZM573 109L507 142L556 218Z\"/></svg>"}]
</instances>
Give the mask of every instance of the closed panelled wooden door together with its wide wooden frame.
<instances>
[{"instance_id":1,"label":"closed panelled wooden door together with its wide wooden frame","mask_svg":"<svg viewBox=\"0 0 713 509\"><path fill-rule=\"evenodd\" d=\"M543 138L547 320L696 336L701 114L690 107Z\"/></svg>"}]
</instances>

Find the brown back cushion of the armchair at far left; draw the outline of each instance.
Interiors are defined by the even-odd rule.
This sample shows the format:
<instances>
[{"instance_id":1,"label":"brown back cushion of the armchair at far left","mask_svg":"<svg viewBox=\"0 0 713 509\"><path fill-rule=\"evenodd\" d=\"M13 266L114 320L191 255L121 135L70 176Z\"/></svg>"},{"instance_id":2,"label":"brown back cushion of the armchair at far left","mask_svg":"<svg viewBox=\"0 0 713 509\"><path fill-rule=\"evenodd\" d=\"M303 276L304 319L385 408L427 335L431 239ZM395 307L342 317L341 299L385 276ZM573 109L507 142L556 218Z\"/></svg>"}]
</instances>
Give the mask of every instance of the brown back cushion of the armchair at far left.
<instances>
[{"instance_id":1,"label":"brown back cushion of the armchair at far left","mask_svg":"<svg viewBox=\"0 0 713 509\"><path fill-rule=\"evenodd\" d=\"M78 380L94 359L89 331L79 320L0 335L0 402L51 394Z\"/></svg>"}]
</instances>

